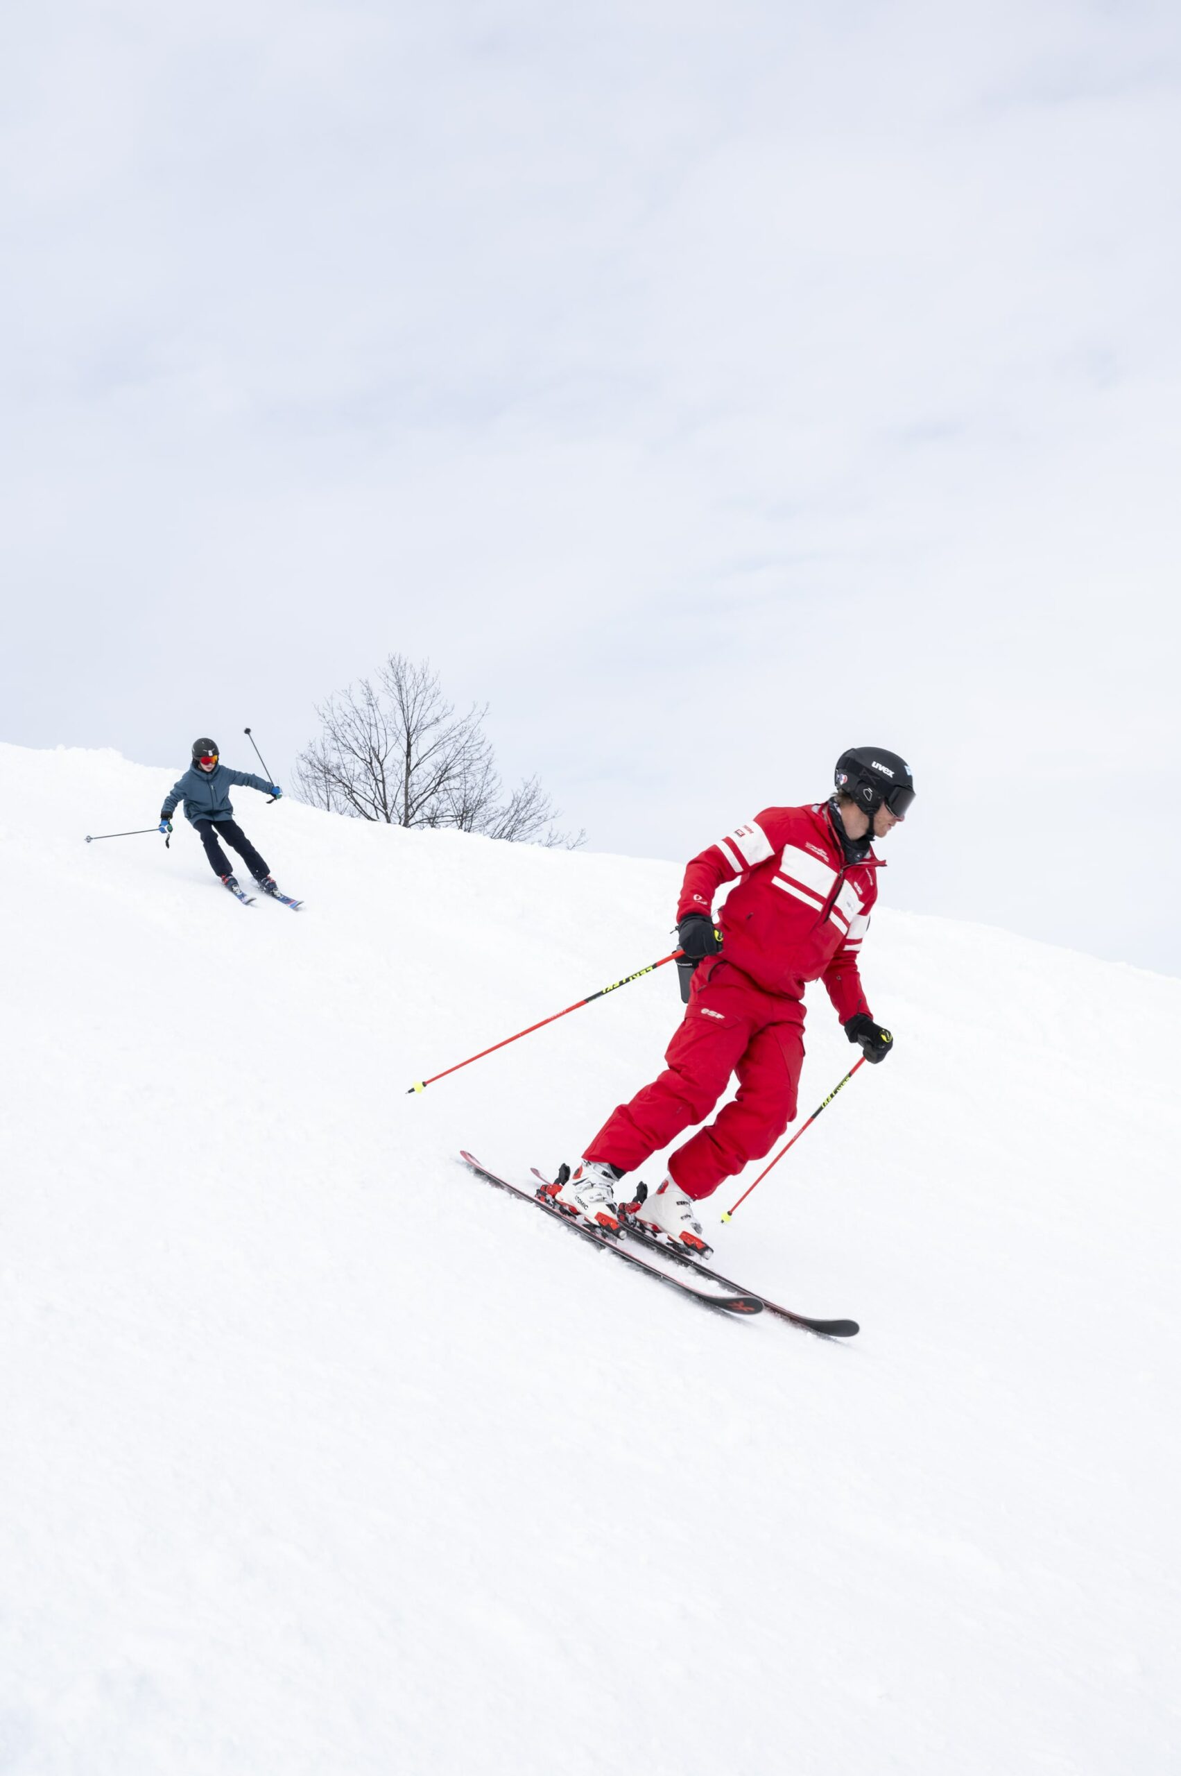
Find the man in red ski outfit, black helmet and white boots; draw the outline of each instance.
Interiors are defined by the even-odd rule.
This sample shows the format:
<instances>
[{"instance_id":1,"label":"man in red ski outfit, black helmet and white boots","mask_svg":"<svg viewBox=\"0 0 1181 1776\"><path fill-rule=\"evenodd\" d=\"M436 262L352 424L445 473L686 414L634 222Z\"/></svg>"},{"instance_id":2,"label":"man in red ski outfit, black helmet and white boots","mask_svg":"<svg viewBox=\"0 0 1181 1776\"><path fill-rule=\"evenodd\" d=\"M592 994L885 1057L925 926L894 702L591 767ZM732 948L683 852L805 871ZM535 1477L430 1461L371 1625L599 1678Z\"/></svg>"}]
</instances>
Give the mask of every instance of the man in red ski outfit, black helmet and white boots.
<instances>
[{"instance_id":1,"label":"man in red ski outfit, black helmet and white boots","mask_svg":"<svg viewBox=\"0 0 1181 1776\"><path fill-rule=\"evenodd\" d=\"M796 1117L805 984L824 982L867 1060L890 1053L893 1037L870 1016L858 954L877 899L881 860L872 840L904 821L913 801L915 783L897 753L856 746L842 753L828 803L764 808L693 858L677 904L677 941L694 971L668 1066L611 1112L572 1176L545 1186L551 1201L607 1231L630 1213L659 1238L709 1256L694 1206L723 1177L762 1160ZM714 924L714 897L735 877ZM703 1122L732 1074L737 1098L671 1154L657 1192L620 1211L623 1174Z\"/></svg>"}]
</instances>

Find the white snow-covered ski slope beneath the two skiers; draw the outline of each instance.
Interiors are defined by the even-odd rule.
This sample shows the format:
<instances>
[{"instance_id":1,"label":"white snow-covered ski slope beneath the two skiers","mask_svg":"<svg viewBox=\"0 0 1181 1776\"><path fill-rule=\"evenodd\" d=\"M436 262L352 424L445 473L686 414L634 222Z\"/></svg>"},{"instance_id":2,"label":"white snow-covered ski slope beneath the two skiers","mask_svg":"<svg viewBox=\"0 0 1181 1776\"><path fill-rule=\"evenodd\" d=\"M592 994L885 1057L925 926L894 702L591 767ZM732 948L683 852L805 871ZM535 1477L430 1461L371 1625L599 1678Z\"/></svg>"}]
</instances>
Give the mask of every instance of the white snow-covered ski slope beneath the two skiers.
<instances>
[{"instance_id":1,"label":"white snow-covered ski slope beneath the two skiers","mask_svg":"<svg viewBox=\"0 0 1181 1776\"><path fill-rule=\"evenodd\" d=\"M5 1776L1177 1769L1181 982L876 918L895 1055L717 1229L824 1344L453 1162L574 1158L671 968L405 1096L677 865L243 790L242 909L82 842L174 774L0 748ZM849 1060L819 995L805 1110Z\"/></svg>"}]
</instances>

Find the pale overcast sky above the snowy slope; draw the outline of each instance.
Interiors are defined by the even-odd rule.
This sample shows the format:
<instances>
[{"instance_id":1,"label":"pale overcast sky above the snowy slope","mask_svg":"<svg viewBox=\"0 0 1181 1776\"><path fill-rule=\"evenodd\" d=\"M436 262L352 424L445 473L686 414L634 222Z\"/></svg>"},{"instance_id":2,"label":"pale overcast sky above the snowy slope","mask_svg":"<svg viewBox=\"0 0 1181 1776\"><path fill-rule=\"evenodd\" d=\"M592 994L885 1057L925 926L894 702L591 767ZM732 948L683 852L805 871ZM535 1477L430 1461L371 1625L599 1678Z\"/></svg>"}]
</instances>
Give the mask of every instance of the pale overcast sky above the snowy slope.
<instances>
[{"instance_id":1,"label":"pale overcast sky above the snowy slope","mask_svg":"<svg viewBox=\"0 0 1181 1776\"><path fill-rule=\"evenodd\" d=\"M4 737L282 781L396 648L593 849L890 746L888 902L1181 970L1174 0L0 32Z\"/></svg>"}]
</instances>

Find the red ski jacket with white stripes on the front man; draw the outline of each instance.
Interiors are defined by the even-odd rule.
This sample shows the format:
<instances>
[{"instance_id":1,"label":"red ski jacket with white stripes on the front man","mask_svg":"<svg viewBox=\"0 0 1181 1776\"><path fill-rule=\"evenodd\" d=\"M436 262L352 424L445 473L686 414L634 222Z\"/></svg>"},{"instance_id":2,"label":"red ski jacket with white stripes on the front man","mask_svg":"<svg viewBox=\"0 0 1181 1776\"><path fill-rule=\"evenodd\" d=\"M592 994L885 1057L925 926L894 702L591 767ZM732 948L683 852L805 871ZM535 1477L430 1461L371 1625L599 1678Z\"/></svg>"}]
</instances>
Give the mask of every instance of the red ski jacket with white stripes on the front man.
<instances>
[{"instance_id":1,"label":"red ski jacket with white stripes on the front man","mask_svg":"<svg viewBox=\"0 0 1181 1776\"><path fill-rule=\"evenodd\" d=\"M693 858L677 920L710 915L723 883L739 877L717 924L723 957L769 993L803 1000L822 980L842 1023L868 1012L858 950L877 899L879 858L845 863L826 803L764 808Z\"/></svg>"}]
</instances>

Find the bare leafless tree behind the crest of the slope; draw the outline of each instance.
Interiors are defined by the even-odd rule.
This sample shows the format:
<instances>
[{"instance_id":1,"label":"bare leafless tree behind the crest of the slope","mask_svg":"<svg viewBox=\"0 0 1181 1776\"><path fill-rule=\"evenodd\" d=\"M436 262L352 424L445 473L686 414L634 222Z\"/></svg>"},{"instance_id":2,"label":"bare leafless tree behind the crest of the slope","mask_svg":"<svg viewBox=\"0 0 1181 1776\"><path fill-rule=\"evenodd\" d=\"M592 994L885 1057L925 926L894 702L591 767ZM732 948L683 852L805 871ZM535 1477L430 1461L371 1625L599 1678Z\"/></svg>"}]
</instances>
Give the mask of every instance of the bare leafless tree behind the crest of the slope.
<instances>
[{"instance_id":1,"label":"bare leafless tree behind the crest of the slope","mask_svg":"<svg viewBox=\"0 0 1181 1776\"><path fill-rule=\"evenodd\" d=\"M503 797L483 732L488 705L456 716L430 662L391 654L376 684L359 678L316 705L320 737L295 762L300 801L391 826L449 826L490 838L581 845L554 828L536 776Z\"/></svg>"}]
</instances>

